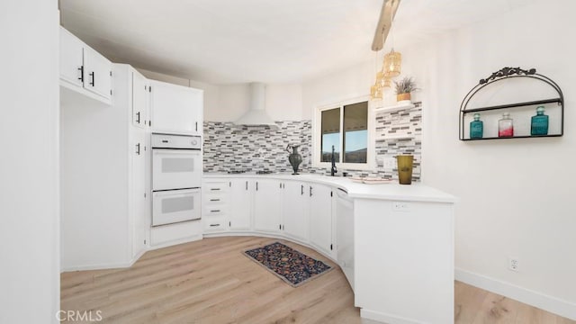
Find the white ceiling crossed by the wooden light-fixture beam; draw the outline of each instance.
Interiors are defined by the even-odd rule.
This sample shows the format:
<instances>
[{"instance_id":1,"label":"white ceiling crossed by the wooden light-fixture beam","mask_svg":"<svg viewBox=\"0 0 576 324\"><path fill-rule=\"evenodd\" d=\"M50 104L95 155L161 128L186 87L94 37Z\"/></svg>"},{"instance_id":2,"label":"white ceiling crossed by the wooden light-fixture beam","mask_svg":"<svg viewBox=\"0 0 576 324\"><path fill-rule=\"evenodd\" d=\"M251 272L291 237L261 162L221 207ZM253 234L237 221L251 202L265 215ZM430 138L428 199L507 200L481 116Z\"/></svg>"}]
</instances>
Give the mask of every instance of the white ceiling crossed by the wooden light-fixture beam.
<instances>
[{"instance_id":1,"label":"white ceiling crossed by the wooden light-fixture beam","mask_svg":"<svg viewBox=\"0 0 576 324\"><path fill-rule=\"evenodd\" d=\"M401 0L400 49L536 0ZM212 84L292 83L374 59L383 0L60 0L61 22L113 62ZM391 40L389 36L389 41Z\"/></svg>"}]
</instances>

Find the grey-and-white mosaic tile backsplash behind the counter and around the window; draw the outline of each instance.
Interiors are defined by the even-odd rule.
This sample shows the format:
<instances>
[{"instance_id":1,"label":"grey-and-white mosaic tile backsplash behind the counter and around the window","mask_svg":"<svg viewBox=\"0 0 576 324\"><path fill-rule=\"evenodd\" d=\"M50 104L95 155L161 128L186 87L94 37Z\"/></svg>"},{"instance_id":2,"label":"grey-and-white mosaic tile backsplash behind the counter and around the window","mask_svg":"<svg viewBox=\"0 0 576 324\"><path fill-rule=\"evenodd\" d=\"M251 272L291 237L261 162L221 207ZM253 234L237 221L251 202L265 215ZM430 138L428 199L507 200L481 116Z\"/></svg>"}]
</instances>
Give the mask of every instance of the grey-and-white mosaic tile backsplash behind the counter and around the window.
<instances>
[{"instance_id":1,"label":"grey-and-white mosaic tile backsplash behind the counter and around the window","mask_svg":"<svg viewBox=\"0 0 576 324\"><path fill-rule=\"evenodd\" d=\"M378 112L375 118L376 168L352 170L338 167L338 175L347 172L351 176L397 179L398 170L394 157L410 154L414 156L412 180L419 181L422 152L421 105L417 103L415 108L396 112ZM204 121L204 172L271 170L292 173L286 146L301 144L298 148L302 155L301 172L330 173L329 167L311 166L311 121L276 121L276 124L278 130L270 130L266 126L246 127L232 122Z\"/></svg>"}]
</instances>

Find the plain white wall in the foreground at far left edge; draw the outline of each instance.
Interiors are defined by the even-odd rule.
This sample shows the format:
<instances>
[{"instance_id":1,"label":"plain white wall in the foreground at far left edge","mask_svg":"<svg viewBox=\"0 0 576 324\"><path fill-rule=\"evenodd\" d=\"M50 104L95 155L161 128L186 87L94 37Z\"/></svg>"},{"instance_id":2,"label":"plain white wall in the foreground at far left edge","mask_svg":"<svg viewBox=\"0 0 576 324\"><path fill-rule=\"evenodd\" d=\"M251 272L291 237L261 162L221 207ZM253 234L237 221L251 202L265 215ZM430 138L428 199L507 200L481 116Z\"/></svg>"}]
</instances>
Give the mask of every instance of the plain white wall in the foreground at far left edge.
<instances>
[{"instance_id":1,"label":"plain white wall in the foreground at far left edge","mask_svg":"<svg viewBox=\"0 0 576 324\"><path fill-rule=\"evenodd\" d=\"M0 322L56 323L58 5L3 1Z\"/></svg>"}]
</instances>

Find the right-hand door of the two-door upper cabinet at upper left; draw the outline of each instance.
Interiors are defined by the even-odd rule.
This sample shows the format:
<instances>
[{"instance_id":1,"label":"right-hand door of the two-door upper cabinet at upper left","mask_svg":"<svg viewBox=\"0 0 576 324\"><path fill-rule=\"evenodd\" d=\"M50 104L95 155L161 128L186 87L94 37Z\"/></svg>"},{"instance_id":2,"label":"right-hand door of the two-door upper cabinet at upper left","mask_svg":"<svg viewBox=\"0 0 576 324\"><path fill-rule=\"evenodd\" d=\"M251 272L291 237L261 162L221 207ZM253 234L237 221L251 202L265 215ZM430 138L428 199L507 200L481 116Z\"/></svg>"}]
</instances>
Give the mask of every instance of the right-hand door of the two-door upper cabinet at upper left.
<instances>
[{"instance_id":1,"label":"right-hand door of the two-door upper cabinet at upper left","mask_svg":"<svg viewBox=\"0 0 576 324\"><path fill-rule=\"evenodd\" d=\"M84 87L106 99L112 96L112 62L89 47L84 48Z\"/></svg>"}]
</instances>

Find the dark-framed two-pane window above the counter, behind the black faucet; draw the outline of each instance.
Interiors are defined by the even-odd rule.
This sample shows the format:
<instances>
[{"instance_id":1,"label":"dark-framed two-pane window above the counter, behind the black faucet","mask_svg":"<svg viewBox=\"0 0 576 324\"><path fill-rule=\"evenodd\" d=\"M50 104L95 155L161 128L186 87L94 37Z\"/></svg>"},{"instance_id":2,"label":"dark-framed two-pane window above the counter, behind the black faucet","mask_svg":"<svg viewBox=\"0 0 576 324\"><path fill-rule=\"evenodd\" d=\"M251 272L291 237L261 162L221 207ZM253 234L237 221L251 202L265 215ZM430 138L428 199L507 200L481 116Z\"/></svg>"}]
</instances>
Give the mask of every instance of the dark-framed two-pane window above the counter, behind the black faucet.
<instances>
[{"instance_id":1,"label":"dark-framed two-pane window above the counter, behind the black faucet","mask_svg":"<svg viewBox=\"0 0 576 324\"><path fill-rule=\"evenodd\" d=\"M368 161L368 102L320 109L320 158L331 162L366 165ZM318 149L318 148L317 148ZM344 152L341 154L341 152Z\"/></svg>"}]
</instances>

